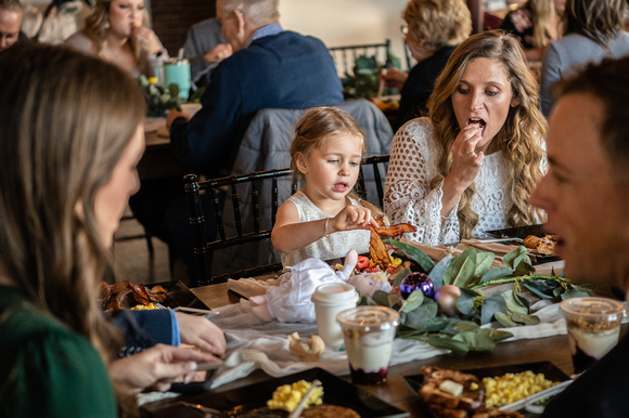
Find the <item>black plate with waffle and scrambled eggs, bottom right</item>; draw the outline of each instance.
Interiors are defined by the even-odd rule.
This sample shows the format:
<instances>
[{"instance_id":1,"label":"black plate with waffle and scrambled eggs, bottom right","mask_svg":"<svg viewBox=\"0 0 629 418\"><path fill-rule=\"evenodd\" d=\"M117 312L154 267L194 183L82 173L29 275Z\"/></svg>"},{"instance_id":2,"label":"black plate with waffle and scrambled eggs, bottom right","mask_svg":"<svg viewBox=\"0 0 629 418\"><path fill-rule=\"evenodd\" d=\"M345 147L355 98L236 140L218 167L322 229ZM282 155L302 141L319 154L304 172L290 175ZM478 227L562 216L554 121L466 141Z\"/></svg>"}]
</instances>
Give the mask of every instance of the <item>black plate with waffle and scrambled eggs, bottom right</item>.
<instances>
[{"instance_id":1,"label":"black plate with waffle and scrambled eggs, bottom right","mask_svg":"<svg viewBox=\"0 0 629 418\"><path fill-rule=\"evenodd\" d=\"M468 370L423 366L421 374L405 379L434 416L461 417L497 416L491 414L498 410L501 417L536 417L549 397L572 382L550 362Z\"/></svg>"}]
</instances>

